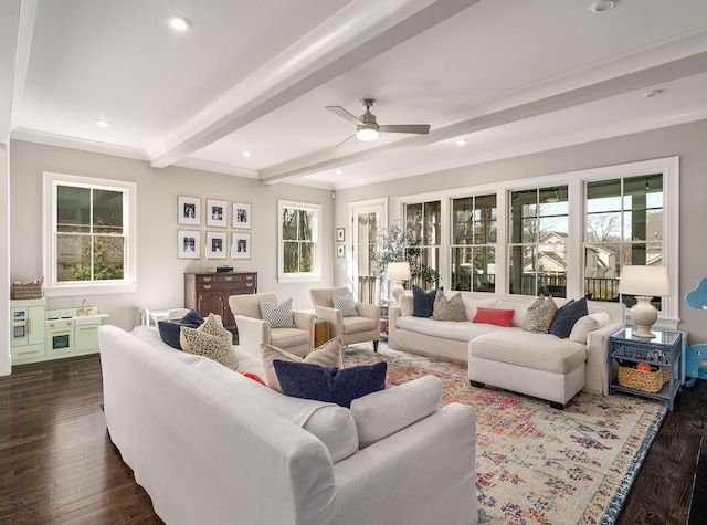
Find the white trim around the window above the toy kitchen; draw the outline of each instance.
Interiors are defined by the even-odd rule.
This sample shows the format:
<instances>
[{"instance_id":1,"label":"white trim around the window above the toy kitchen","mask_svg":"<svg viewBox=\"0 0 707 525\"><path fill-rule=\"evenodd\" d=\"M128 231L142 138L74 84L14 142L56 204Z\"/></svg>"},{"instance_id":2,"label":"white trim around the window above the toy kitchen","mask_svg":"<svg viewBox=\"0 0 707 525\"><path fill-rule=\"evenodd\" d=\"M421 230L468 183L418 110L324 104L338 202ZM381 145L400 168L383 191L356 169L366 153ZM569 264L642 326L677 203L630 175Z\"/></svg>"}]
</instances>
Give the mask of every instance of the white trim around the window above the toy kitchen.
<instances>
[{"instance_id":1,"label":"white trim around the window above the toy kitchen","mask_svg":"<svg viewBox=\"0 0 707 525\"><path fill-rule=\"evenodd\" d=\"M127 231L124 279L117 282L72 283L56 282L56 186L62 182L98 189L119 189L127 195ZM72 297L133 293L137 290L137 185L122 180L82 177L77 175L42 172L42 269L44 296Z\"/></svg>"}]
</instances>

